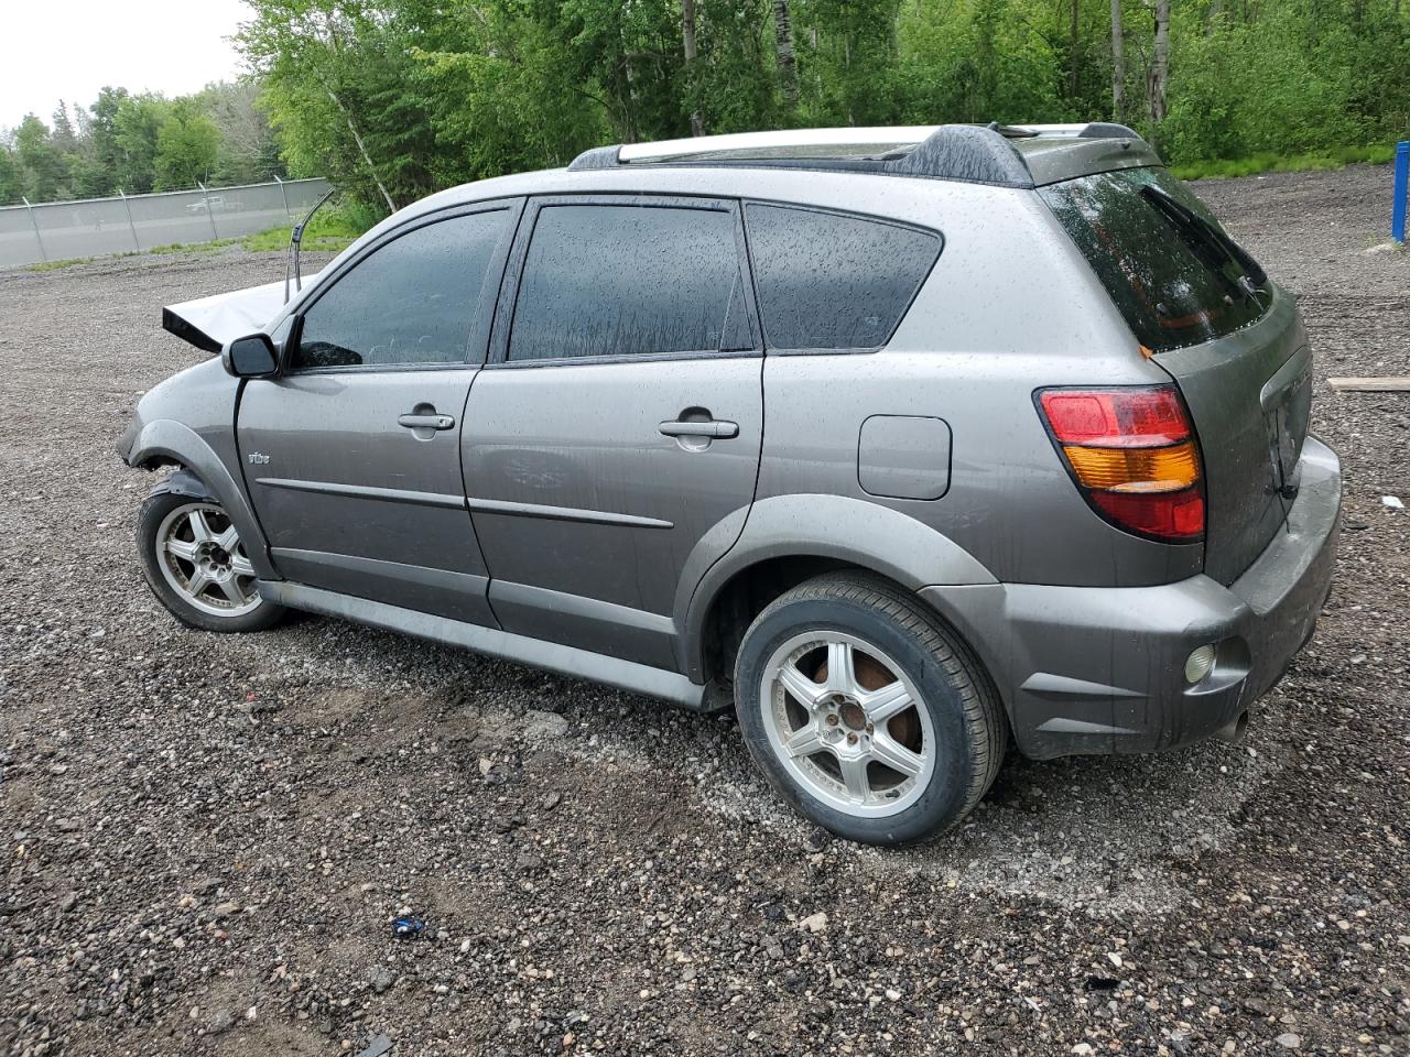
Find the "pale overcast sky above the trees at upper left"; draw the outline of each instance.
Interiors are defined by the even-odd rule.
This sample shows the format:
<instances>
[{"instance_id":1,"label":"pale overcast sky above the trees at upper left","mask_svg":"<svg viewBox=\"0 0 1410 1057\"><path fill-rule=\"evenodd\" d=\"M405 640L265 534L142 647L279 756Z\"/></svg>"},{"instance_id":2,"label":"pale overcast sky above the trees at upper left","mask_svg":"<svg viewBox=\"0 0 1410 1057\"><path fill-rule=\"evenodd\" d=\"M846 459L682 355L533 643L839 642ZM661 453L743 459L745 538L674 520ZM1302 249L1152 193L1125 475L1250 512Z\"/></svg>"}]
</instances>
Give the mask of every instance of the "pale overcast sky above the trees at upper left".
<instances>
[{"instance_id":1,"label":"pale overcast sky above the trees at upper left","mask_svg":"<svg viewBox=\"0 0 1410 1057\"><path fill-rule=\"evenodd\" d=\"M104 85L179 96L241 72L241 0L0 0L0 128L89 106Z\"/></svg>"}]
</instances>

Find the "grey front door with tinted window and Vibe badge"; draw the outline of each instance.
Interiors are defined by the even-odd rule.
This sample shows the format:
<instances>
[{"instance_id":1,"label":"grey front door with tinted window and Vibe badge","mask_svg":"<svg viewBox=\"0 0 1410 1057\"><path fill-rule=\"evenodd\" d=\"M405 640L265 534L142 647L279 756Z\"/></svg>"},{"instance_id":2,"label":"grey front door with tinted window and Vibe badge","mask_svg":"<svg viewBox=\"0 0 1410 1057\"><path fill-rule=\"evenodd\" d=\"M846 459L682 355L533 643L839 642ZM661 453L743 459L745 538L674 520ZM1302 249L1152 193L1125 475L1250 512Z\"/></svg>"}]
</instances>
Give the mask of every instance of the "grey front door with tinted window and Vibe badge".
<instances>
[{"instance_id":1,"label":"grey front door with tinted window and Vibe badge","mask_svg":"<svg viewBox=\"0 0 1410 1057\"><path fill-rule=\"evenodd\" d=\"M290 581L494 626L460 433L522 203L412 221L302 307L238 410L245 483Z\"/></svg>"}]
</instances>

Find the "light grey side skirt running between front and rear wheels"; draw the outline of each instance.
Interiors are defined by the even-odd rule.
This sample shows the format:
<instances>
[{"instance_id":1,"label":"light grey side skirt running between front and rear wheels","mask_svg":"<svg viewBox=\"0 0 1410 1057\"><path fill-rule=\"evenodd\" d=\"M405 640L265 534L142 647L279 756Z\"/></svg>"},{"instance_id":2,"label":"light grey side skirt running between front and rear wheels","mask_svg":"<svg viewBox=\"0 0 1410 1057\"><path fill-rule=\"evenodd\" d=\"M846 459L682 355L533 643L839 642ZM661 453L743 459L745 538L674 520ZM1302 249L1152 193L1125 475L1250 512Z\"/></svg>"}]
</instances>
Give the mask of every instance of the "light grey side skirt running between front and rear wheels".
<instances>
[{"instance_id":1,"label":"light grey side skirt running between front and rear wheels","mask_svg":"<svg viewBox=\"0 0 1410 1057\"><path fill-rule=\"evenodd\" d=\"M289 581L262 579L258 581L258 588L264 598L289 609L355 620L361 624L384 627L388 631L400 631L417 638L430 638L436 643L460 645L491 657L502 657L506 661L546 668L575 679L605 682L623 691L682 705L692 712L708 712L713 707L706 706L704 686L697 686L684 675L663 668L651 668L636 661L622 661L571 645L544 643L494 627L467 624L462 620L419 613L415 609L389 606L385 602L372 602L352 595L338 595L333 591L290 583Z\"/></svg>"}]
</instances>

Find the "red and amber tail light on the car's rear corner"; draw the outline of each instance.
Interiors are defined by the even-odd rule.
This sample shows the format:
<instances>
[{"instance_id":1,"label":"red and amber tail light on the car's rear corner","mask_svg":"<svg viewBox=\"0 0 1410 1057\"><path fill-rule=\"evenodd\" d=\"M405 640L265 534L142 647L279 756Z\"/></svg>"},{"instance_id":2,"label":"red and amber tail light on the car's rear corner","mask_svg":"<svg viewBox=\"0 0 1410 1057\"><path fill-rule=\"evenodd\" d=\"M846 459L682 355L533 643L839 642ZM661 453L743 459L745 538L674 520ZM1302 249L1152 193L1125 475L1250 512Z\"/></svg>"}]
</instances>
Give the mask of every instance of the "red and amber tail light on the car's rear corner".
<instances>
[{"instance_id":1,"label":"red and amber tail light on the car's rear corner","mask_svg":"<svg viewBox=\"0 0 1410 1057\"><path fill-rule=\"evenodd\" d=\"M1175 386L1039 389L1048 433L1107 521L1160 543L1204 538L1204 482Z\"/></svg>"}]
</instances>

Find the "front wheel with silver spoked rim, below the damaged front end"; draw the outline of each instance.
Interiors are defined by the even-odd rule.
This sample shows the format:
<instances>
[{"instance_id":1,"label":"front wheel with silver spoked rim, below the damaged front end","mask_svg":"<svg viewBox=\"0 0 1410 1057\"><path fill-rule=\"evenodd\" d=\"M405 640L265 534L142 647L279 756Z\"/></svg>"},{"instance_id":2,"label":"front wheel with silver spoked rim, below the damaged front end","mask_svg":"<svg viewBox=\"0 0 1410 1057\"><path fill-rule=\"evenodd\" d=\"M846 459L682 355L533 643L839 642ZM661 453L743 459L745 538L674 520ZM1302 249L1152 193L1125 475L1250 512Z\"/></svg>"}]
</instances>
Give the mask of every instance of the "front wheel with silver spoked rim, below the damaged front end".
<instances>
[{"instance_id":1,"label":"front wheel with silver spoked rim, below the damaged front end","mask_svg":"<svg viewBox=\"0 0 1410 1057\"><path fill-rule=\"evenodd\" d=\"M203 530L197 531L193 514ZM214 500L173 492L148 496L137 519L137 552L147 586L186 627L262 631L283 616L283 606L259 598L254 567Z\"/></svg>"}]
</instances>

